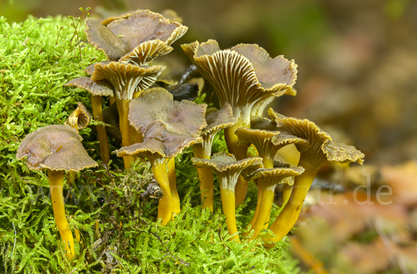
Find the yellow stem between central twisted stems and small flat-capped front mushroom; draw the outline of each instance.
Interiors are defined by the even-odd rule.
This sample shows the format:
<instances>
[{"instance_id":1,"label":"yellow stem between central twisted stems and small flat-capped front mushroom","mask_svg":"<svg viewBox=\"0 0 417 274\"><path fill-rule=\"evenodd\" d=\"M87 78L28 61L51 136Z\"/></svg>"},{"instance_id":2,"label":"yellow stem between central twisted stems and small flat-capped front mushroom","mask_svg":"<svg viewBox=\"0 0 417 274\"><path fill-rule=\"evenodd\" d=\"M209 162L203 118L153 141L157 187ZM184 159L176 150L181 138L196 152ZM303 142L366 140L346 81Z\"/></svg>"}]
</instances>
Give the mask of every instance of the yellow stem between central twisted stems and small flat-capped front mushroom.
<instances>
[{"instance_id":1,"label":"yellow stem between central twisted stems and small flat-capped front mushroom","mask_svg":"<svg viewBox=\"0 0 417 274\"><path fill-rule=\"evenodd\" d=\"M204 152L201 144L193 145L195 158L210 159L210 154ZM199 187L201 191L202 207L208 207L213 212L213 171L211 168L197 168Z\"/></svg>"}]
</instances>

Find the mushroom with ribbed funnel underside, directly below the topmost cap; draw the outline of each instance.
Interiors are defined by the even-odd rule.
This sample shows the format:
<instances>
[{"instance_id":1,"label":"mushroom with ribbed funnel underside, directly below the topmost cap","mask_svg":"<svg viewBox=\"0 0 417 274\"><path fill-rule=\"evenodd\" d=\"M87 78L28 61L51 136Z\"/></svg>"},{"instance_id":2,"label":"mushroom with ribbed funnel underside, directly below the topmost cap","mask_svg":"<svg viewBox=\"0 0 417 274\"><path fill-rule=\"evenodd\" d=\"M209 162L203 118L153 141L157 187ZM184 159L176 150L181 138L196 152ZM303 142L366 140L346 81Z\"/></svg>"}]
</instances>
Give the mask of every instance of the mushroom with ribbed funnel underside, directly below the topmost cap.
<instances>
[{"instance_id":1,"label":"mushroom with ribbed funnel underside, directly below the topmost cap","mask_svg":"<svg viewBox=\"0 0 417 274\"><path fill-rule=\"evenodd\" d=\"M117 111L120 119L120 132L122 133L122 145L124 147L131 145L131 136L129 129L129 102L133 99L133 92L142 92L152 86L156 77L165 70L162 65L151 67L138 67L137 65L124 64L120 62L110 62L106 65L103 63L95 64L92 74L92 81L108 81L114 88ZM123 158L124 168L130 168L133 161L131 156Z\"/></svg>"}]
</instances>

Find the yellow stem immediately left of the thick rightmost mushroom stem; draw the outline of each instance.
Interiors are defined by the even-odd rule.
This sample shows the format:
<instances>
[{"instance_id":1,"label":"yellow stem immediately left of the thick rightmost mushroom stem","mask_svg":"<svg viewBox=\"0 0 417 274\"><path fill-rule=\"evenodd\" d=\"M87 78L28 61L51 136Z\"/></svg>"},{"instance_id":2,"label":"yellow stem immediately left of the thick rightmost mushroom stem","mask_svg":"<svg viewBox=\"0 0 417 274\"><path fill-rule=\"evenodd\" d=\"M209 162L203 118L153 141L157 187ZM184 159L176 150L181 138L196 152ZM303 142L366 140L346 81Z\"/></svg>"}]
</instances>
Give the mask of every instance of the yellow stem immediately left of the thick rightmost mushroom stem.
<instances>
[{"instance_id":1,"label":"yellow stem immediately left of the thick rightmost mushroom stem","mask_svg":"<svg viewBox=\"0 0 417 274\"><path fill-rule=\"evenodd\" d=\"M268 218L268 215L272 209L272 203L274 202L274 188L276 184L272 186L263 186L262 188L262 195L261 195L261 202L259 204L259 211L258 216L256 216L256 221L252 230L254 230L254 234L250 237L250 240L256 239L261 232L261 229L265 225L265 220Z\"/></svg>"}]
</instances>

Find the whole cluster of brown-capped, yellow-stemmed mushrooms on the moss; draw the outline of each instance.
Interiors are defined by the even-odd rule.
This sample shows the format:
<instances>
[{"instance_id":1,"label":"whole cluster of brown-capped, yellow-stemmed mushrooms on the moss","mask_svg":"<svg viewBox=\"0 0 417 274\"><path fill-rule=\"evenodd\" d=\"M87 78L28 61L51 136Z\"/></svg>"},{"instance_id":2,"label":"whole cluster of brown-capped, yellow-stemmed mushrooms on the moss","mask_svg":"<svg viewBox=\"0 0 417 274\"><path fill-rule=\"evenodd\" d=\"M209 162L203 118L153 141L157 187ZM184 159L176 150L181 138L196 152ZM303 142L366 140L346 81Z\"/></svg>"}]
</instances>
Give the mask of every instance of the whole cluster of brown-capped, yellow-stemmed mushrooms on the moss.
<instances>
[{"instance_id":1,"label":"whole cluster of brown-capped, yellow-stemmed mushrooms on the moss","mask_svg":"<svg viewBox=\"0 0 417 274\"><path fill-rule=\"evenodd\" d=\"M295 224L322 163L363 161L359 150L332 140L309 120L286 118L272 109L268 111L269 118L261 117L275 97L296 94L293 85L297 65L284 56L271 58L258 45L240 44L222 50L215 40L193 42L181 46L193 64L186 74L177 82L157 81L165 66L151 62L173 50L172 43L186 33L186 26L149 10L124 14L102 24L86 19L85 24L88 42L104 51L108 60L86 67L89 76L73 79L65 86L90 92L93 120L101 122L96 129L104 163L110 160L108 124L121 136L122 147L115 154L123 157L124 168L130 168L135 159L151 163L154 182L148 192L157 186L158 195L146 196L159 199L157 219L161 225L174 220L181 211L174 159L186 147L193 148L202 207L215 210L214 171L230 239L259 239L262 229L269 229L273 234L263 234L268 247L283 239ZM192 102L199 86L185 81L195 71L213 86L220 109L206 109L206 104ZM109 98L108 106L102 97ZM17 152L18 159L27 156L30 169L48 170L56 223L68 259L75 253L65 218L63 174L97 166L83 149L78 133L89 122L89 111L79 103L65 125L28 134ZM228 152L213 154L211 145L219 131L224 132ZM289 144L294 144L301 154L297 166L274 161L277 152ZM247 156L251 145L256 157ZM258 188L257 206L246 232L239 234L235 209L245 200L248 182ZM278 184L285 185L286 204L271 222Z\"/></svg>"}]
</instances>

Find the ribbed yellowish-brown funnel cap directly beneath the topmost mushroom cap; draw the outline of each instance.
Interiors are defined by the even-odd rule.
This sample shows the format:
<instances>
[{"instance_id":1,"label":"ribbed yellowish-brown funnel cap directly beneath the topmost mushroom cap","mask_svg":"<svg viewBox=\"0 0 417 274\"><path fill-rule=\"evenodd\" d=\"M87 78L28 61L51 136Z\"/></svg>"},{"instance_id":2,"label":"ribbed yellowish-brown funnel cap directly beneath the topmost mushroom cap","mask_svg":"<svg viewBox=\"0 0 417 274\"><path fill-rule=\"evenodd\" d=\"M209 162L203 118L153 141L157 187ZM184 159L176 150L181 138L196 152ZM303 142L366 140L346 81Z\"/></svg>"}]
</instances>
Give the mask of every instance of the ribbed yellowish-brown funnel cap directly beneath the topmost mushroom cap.
<instances>
[{"instance_id":1,"label":"ribbed yellowish-brown funnel cap directly beneath the topmost mushroom cap","mask_svg":"<svg viewBox=\"0 0 417 274\"><path fill-rule=\"evenodd\" d=\"M111 62L106 65L96 63L92 81L109 81L114 88L117 100L131 100L133 93L152 86L156 78L165 70L163 65L150 67Z\"/></svg>"}]
</instances>

